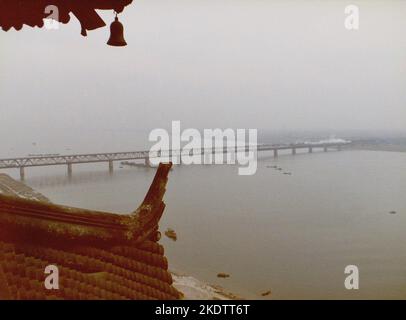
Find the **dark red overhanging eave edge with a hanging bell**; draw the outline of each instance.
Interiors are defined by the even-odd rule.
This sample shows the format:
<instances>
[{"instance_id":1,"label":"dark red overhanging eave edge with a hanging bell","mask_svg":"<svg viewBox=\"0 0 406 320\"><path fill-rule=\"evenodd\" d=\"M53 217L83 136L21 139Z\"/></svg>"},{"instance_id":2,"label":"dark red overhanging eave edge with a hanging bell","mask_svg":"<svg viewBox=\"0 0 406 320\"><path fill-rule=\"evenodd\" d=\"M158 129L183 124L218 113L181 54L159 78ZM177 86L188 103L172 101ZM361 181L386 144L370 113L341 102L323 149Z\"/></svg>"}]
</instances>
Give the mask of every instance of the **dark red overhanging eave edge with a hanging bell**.
<instances>
[{"instance_id":1,"label":"dark red overhanging eave edge with a hanging bell","mask_svg":"<svg viewBox=\"0 0 406 320\"><path fill-rule=\"evenodd\" d=\"M80 22L81 34L86 36L87 31L106 26L96 10L112 10L116 13L112 33L116 33L110 36L109 44L123 46L123 34L117 33L122 29L117 14L131 3L132 0L0 0L0 27L4 31L11 28L19 31L24 25L52 29L59 22L67 24L72 13Z\"/></svg>"}]
</instances>

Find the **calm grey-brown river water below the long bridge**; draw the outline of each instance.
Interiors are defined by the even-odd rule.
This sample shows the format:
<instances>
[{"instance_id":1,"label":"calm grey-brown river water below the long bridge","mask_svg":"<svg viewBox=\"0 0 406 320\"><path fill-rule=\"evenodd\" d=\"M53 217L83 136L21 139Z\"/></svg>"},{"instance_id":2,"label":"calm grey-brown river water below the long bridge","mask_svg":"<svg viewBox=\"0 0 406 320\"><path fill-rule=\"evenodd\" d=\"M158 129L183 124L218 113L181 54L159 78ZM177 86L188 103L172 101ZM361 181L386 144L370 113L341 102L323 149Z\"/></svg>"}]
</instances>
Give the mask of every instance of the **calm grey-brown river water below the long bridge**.
<instances>
[{"instance_id":1,"label":"calm grey-brown river water below the long bridge","mask_svg":"<svg viewBox=\"0 0 406 320\"><path fill-rule=\"evenodd\" d=\"M65 167L27 168L26 183L56 203L126 213L154 173L115 164L109 175L107 164L87 164L68 179ZM265 153L253 176L230 165L176 166L161 230L175 229L178 240L161 242L173 270L246 298L271 290L266 298L405 299L405 191L406 153L397 152ZM358 290L344 287L347 265L359 269Z\"/></svg>"}]
</instances>

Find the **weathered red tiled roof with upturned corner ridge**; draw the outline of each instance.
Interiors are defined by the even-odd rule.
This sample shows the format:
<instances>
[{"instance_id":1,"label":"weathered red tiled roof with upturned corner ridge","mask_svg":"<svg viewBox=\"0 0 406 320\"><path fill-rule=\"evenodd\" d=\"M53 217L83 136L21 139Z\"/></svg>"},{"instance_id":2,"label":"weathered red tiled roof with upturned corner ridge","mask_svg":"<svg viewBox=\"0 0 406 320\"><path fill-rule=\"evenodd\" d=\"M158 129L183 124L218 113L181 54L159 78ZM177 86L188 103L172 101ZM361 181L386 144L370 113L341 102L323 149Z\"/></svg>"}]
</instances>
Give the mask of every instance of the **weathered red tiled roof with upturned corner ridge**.
<instances>
[{"instance_id":1,"label":"weathered red tiled roof with upturned corner ridge","mask_svg":"<svg viewBox=\"0 0 406 320\"><path fill-rule=\"evenodd\" d=\"M129 215L0 194L0 298L180 298L157 243L170 167L159 166ZM59 268L59 290L45 288L48 265Z\"/></svg>"}]
</instances>

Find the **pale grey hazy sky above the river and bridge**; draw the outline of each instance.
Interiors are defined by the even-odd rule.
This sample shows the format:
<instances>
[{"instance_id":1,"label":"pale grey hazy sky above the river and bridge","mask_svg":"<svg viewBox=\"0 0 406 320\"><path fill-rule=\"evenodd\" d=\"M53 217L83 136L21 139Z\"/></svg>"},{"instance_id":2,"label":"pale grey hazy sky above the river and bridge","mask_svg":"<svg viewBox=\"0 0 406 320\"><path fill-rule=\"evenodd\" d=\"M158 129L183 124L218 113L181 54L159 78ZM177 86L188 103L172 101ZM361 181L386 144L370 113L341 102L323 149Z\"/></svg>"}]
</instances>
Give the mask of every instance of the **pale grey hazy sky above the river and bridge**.
<instances>
[{"instance_id":1,"label":"pale grey hazy sky above the river and bridge","mask_svg":"<svg viewBox=\"0 0 406 320\"><path fill-rule=\"evenodd\" d=\"M360 30L344 28L359 6ZM107 24L112 12L103 14ZM80 35L0 31L0 135L184 127L405 130L406 1L136 0Z\"/></svg>"}]
</instances>

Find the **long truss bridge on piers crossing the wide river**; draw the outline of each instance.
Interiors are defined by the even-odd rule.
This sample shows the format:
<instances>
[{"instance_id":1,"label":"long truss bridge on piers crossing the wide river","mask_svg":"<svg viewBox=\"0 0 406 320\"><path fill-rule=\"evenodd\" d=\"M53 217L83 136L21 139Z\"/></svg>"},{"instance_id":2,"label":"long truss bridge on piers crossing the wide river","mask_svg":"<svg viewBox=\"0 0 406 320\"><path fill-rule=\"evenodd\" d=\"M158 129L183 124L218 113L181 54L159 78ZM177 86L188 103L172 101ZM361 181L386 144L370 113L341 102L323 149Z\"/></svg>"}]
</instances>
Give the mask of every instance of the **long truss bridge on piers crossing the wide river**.
<instances>
[{"instance_id":1,"label":"long truss bridge on piers crossing the wide river","mask_svg":"<svg viewBox=\"0 0 406 320\"><path fill-rule=\"evenodd\" d=\"M278 156L280 150L292 150L292 154L296 154L298 149L308 149L309 153L313 152L316 148L321 148L325 152L328 149L341 150L341 147L348 145L348 142L343 143L301 143L301 144L260 144L257 146L246 147L224 147L224 148L201 148L198 149L198 154L204 155L207 153L235 153L235 152L247 152L257 151L273 151L274 157ZM72 175L72 165L80 163L97 163L107 162L109 164L109 171L113 172L114 161L127 161L127 160L145 160L146 165L150 165L150 159L156 157L182 157L189 153L189 155L196 155L193 153L193 149L189 150L162 150L162 151L131 151L131 152L112 152L112 153L89 153L89 154L73 154L73 155L38 155L28 156L20 158L0 159L0 169L20 169L20 177L23 180L25 177L24 168L26 167L44 167L44 166L56 166L66 165L68 167L68 175Z\"/></svg>"}]
</instances>

